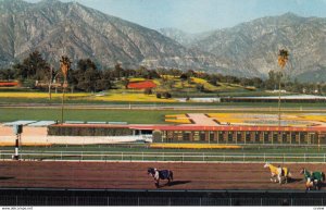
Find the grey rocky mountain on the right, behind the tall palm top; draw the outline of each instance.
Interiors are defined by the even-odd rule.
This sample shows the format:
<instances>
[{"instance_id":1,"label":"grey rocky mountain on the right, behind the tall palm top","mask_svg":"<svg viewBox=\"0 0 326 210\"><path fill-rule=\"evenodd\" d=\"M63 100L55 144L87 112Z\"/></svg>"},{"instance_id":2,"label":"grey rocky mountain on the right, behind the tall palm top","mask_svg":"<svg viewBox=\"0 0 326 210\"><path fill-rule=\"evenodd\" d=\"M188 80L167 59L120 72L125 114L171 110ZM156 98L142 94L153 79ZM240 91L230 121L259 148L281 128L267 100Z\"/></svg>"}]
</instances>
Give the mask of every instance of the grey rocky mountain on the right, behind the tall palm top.
<instances>
[{"instance_id":1,"label":"grey rocky mountain on the right, behind the tall palm top","mask_svg":"<svg viewBox=\"0 0 326 210\"><path fill-rule=\"evenodd\" d=\"M225 59L227 69L248 73L255 70L265 76L271 70L279 70L277 53L285 48L290 52L286 71L294 77L326 66L326 18L291 13L263 17L215 30L191 47Z\"/></svg>"}]
</instances>

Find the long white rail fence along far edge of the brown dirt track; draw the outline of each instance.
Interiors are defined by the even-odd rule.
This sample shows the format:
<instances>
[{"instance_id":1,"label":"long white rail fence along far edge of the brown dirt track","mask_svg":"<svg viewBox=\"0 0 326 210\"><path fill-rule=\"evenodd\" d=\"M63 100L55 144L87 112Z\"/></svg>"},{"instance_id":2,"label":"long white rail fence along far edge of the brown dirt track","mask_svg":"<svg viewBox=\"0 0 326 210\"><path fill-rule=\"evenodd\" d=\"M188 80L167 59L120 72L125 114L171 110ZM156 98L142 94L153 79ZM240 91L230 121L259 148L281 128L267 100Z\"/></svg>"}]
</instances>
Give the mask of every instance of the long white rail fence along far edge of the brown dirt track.
<instances>
[{"instance_id":1,"label":"long white rail fence along far edge of the brown dirt track","mask_svg":"<svg viewBox=\"0 0 326 210\"><path fill-rule=\"evenodd\" d=\"M0 150L0 160L13 151ZM120 151L23 151L21 160L54 161L165 161L165 162L294 162L325 163L325 153L211 153L211 152L120 152Z\"/></svg>"}]
</instances>

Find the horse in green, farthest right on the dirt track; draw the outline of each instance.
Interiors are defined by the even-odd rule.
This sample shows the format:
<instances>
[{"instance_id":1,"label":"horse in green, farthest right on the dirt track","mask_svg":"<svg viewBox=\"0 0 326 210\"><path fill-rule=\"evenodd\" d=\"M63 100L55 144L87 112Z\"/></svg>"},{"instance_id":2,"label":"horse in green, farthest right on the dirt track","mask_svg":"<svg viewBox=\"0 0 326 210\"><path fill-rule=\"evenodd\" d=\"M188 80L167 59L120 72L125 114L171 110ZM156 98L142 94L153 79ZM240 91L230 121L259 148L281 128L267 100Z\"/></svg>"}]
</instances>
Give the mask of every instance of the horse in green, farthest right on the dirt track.
<instances>
[{"instance_id":1,"label":"horse in green, farthest right on the dirt track","mask_svg":"<svg viewBox=\"0 0 326 210\"><path fill-rule=\"evenodd\" d=\"M325 181L324 172L315 171L311 173L305 168L302 168L300 174L304 175L306 190L311 190L311 189L319 190L322 188L322 183Z\"/></svg>"}]
</instances>

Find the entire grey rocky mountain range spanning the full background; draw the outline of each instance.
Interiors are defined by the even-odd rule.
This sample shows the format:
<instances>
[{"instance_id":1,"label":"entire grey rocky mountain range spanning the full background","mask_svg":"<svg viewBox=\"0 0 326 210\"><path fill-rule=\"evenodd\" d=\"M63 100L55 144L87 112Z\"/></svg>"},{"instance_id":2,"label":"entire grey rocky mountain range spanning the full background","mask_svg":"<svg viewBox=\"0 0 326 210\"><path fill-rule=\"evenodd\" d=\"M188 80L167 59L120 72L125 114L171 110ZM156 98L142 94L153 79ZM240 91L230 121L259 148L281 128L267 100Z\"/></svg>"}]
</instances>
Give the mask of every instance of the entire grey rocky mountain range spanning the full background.
<instances>
[{"instance_id":1,"label":"entire grey rocky mountain range spanning the full background","mask_svg":"<svg viewBox=\"0 0 326 210\"><path fill-rule=\"evenodd\" d=\"M187 34L146 28L76 2L1 0L0 46L0 67L38 50L55 66L66 54L74 64L90 58L100 69L122 63L124 67L192 69L247 77L279 71L277 53L285 48L290 53L286 74L326 79L326 18L292 13Z\"/></svg>"}]
</instances>

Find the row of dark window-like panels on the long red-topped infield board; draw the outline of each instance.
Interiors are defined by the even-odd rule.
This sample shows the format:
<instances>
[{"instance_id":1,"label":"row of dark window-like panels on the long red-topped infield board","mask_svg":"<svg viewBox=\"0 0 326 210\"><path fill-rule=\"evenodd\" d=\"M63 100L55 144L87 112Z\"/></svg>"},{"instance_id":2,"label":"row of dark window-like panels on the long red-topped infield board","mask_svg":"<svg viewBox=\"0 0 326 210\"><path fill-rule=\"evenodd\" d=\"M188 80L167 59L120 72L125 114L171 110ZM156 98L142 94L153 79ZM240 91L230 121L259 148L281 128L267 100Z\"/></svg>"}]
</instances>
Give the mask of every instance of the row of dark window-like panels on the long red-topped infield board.
<instances>
[{"instance_id":1,"label":"row of dark window-like panels on the long red-topped infield board","mask_svg":"<svg viewBox=\"0 0 326 210\"><path fill-rule=\"evenodd\" d=\"M325 136L308 132L163 132L163 141L229 144L326 144Z\"/></svg>"}]
</instances>

